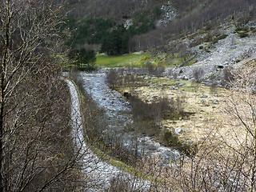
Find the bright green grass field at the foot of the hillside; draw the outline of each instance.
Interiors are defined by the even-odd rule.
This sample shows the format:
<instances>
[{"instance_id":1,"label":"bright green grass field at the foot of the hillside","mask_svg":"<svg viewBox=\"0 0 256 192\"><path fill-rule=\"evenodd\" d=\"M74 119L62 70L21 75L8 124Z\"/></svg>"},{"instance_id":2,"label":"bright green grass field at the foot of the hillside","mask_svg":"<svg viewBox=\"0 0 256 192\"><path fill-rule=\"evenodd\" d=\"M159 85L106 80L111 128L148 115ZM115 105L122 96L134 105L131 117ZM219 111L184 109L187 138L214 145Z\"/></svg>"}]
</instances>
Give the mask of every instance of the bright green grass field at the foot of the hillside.
<instances>
[{"instance_id":1,"label":"bright green grass field at the foot of the hillside","mask_svg":"<svg viewBox=\"0 0 256 192\"><path fill-rule=\"evenodd\" d=\"M148 54L125 54L122 56L106 56L105 54L98 54L96 58L96 65L99 67L142 67L145 60L150 59L150 56Z\"/></svg>"}]
</instances>

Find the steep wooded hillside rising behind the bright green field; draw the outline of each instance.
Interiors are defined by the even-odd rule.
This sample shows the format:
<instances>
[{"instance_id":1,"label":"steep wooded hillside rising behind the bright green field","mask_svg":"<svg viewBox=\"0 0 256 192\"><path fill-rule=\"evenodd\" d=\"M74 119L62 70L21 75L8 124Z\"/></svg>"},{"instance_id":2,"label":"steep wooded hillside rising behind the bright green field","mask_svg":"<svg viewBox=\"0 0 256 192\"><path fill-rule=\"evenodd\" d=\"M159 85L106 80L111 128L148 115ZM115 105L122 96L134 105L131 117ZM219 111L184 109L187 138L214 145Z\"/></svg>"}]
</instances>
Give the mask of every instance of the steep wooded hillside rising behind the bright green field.
<instances>
[{"instance_id":1,"label":"steep wooded hillside rising behind the bright green field","mask_svg":"<svg viewBox=\"0 0 256 192\"><path fill-rule=\"evenodd\" d=\"M66 8L70 45L106 54L160 51L176 54L172 60L180 63L195 51L211 52L230 33L239 38L254 34L255 4L251 0L70 0Z\"/></svg>"}]
</instances>

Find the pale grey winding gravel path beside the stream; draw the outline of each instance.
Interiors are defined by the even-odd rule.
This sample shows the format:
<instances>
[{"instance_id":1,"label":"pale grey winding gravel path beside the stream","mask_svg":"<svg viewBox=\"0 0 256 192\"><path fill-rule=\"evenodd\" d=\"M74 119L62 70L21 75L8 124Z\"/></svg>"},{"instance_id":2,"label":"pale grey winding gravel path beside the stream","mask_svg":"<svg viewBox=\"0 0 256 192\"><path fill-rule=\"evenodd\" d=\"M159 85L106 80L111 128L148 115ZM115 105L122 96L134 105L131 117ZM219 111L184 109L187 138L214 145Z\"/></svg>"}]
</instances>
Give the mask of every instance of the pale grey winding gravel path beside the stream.
<instances>
[{"instance_id":1,"label":"pale grey winding gravel path beside the stream","mask_svg":"<svg viewBox=\"0 0 256 192\"><path fill-rule=\"evenodd\" d=\"M81 167L85 175L86 191L102 191L110 187L111 181L114 178L122 179L129 182L130 191L145 191L149 186L149 182L142 181L134 175L127 174L123 170L119 170L115 166L103 162L98 158L89 146L86 146L84 139L83 118L80 110L80 95L74 82L65 78L67 85L70 88L71 95L71 120L73 122L72 135L74 136L75 150L81 157Z\"/></svg>"}]
</instances>

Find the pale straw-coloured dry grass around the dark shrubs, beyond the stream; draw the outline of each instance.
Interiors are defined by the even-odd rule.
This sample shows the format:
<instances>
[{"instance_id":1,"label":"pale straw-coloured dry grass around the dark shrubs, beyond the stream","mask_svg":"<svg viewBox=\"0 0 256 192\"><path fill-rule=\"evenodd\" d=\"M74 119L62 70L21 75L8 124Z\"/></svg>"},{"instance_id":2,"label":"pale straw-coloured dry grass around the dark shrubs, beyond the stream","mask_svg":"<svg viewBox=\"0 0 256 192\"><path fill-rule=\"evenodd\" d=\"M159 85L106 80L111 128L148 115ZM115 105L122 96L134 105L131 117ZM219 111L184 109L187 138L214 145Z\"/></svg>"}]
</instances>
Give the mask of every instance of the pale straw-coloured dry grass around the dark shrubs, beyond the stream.
<instances>
[{"instance_id":1,"label":"pale straw-coloured dry grass around the dark shrubs, beyond the stream","mask_svg":"<svg viewBox=\"0 0 256 192\"><path fill-rule=\"evenodd\" d=\"M183 142L200 142L206 138L214 124L222 121L222 109L226 105L228 90L216 88L212 94L211 87L187 81L174 81L170 78L144 79L147 86L119 87L118 91L138 95L144 102L152 102L160 97L178 98L185 97L185 111L190 113L189 118L180 120L162 120L161 129L174 130L182 128L178 137ZM177 86L178 83L186 83ZM174 89L174 87L177 87ZM204 98L206 97L206 98ZM202 102L204 101L204 102ZM214 102L218 101L218 104Z\"/></svg>"}]
</instances>

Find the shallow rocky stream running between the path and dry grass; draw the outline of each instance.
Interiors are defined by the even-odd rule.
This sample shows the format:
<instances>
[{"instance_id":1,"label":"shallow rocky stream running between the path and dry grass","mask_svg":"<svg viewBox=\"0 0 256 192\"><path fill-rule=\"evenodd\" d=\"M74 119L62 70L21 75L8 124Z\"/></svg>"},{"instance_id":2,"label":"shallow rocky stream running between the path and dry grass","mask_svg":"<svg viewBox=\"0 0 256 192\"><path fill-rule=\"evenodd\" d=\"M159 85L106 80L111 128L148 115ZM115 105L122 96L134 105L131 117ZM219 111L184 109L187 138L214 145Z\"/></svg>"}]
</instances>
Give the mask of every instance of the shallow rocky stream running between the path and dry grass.
<instances>
[{"instance_id":1,"label":"shallow rocky stream running between the path and dry grass","mask_svg":"<svg viewBox=\"0 0 256 192\"><path fill-rule=\"evenodd\" d=\"M170 161L180 157L180 152L170 147L162 146L153 138L145 135L134 134L129 128L132 126L132 114L130 103L116 90L110 89L106 84L104 72L79 72L82 78L82 86L86 93L104 110L106 114L107 131L110 134L122 138L124 146L130 147L130 143L136 142L138 154L146 154L149 157L160 155ZM130 148L134 151L134 148Z\"/></svg>"}]
</instances>

